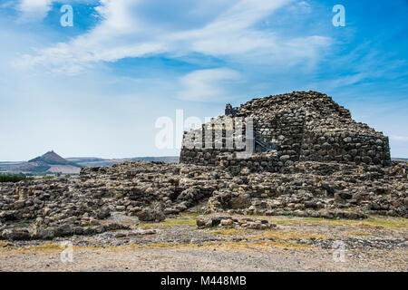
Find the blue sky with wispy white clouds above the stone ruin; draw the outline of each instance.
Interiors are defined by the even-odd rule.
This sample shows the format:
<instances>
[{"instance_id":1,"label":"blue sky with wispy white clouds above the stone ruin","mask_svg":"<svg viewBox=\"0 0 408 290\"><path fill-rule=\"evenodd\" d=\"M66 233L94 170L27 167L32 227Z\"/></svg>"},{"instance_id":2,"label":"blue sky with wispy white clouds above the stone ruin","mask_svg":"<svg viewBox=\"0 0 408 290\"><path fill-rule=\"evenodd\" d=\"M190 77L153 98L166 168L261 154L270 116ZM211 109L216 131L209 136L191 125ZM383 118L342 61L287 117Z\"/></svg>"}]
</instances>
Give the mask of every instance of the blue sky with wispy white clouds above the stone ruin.
<instances>
[{"instance_id":1,"label":"blue sky with wispy white clouds above the stone ruin","mask_svg":"<svg viewBox=\"0 0 408 290\"><path fill-rule=\"evenodd\" d=\"M308 90L408 157L407 14L405 0L2 0L0 160L178 155L155 146L159 117Z\"/></svg>"}]
</instances>

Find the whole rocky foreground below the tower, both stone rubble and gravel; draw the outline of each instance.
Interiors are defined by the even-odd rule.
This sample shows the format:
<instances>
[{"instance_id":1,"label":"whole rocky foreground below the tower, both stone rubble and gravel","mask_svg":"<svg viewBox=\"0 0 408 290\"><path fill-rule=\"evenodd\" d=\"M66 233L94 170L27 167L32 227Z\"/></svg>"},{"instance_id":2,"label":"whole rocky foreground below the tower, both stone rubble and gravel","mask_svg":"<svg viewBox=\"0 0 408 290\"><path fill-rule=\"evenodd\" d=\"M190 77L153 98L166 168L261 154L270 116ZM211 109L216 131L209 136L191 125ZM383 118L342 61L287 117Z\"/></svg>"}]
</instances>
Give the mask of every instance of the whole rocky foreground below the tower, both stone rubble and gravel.
<instances>
[{"instance_id":1,"label":"whole rocky foreground below the tower, both stone rubble and gravel","mask_svg":"<svg viewBox=\"0 0 408 290\"><path fill-rule=\"evenodd\" d=\"M138 161L2 183L0 269L406 271L407 167ZM63 241L76 262L60 261Z\"/></svg>"}]
</instances>

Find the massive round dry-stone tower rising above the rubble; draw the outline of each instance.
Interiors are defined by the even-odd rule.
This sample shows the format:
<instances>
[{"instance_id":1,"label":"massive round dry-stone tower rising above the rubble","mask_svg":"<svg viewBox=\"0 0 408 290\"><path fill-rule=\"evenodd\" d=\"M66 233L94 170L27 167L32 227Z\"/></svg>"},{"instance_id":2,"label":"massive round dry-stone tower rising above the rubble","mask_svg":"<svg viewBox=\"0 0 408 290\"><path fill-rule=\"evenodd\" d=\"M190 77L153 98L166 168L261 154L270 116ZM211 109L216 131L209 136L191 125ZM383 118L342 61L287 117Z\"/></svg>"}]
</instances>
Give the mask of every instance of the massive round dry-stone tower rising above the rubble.
<instances>
[{"instance_id":1,"label":"massive round dry-stone tower rising above the rubble","mask_svg":"<svg viewBox=\"0 0 408 290\"><path fill-rule=\"evenodd\" d=\"M238 146L238 140L246 145ZM241 151L253 154L238 158ZM382 132L354 121L331 97L292 92L253 99L234 118L220 116L200 130L184 132L180 153L181 163L257 171L278 171L298 161L390 166L389 141Z\"/></svg>"}]
</instances>

